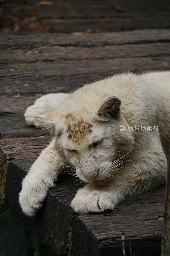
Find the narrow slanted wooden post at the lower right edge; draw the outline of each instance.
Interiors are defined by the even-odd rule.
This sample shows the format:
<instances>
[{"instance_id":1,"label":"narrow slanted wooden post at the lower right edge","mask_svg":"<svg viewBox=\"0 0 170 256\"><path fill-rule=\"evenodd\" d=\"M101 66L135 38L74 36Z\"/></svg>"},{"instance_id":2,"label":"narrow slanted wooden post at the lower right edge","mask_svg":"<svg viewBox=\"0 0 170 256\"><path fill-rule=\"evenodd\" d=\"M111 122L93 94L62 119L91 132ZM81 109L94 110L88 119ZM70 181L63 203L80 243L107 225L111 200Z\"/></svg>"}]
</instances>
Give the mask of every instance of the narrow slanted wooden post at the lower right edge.
<instances>
[{"instance_id":1,"label":"narrow slanted wooden post at the lower right edge","mask_svg":"<svg viewBox=\"0 0 170 256\"><path fill-rule=\"evenodd\" d=\"M168 168L165 189L164 220L162 230L161 256L170 254L170 144L168 156Z\"/></svg>"}]
</instances>

